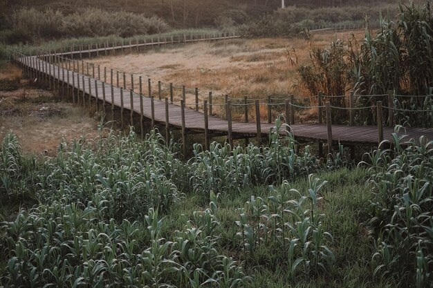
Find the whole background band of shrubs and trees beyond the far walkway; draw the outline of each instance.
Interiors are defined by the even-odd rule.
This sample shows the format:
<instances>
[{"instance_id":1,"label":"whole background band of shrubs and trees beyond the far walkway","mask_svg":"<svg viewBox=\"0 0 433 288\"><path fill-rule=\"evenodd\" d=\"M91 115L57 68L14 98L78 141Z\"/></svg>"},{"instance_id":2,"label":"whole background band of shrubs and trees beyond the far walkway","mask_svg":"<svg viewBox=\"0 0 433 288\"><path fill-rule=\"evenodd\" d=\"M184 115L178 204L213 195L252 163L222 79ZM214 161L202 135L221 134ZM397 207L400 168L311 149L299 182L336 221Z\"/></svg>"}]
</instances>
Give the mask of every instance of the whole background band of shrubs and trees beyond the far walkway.
<instances>
[{"instance_id":1,"label":"whole background band of shrubs and trees beyond the far walkway","mask_svg":"<svg viewBox=\"0 0 433 288\"><path fill-rule=\"evenodd\" d=\"M119 3L120 2L120 3ZM65 37L130 37L179 28L240 28L249 36L298 35L304 28L360 25L366 15L378 19L387 1L370 8L302 1L14 1L0 15L0 42L18 44ZM301 7L297 6L301 5ZM0 2L1 6L1 2ZM317 7L319 6L319 7ZM85 8L84 8L85 7ZM122 7L119 11L118 7ZM391 10L391 15L395 13Z\"/></svg>"}]
</instances>

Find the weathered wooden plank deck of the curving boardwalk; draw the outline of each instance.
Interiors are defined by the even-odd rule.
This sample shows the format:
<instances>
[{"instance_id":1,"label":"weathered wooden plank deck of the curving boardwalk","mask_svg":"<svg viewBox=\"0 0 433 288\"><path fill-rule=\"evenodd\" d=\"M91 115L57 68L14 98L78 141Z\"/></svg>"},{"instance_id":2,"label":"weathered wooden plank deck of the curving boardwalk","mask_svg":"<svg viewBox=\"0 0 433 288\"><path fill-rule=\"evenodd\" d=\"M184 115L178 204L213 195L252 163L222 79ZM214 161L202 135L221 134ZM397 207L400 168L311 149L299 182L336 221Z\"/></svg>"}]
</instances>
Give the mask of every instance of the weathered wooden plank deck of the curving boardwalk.
<instances>
[{"instance_id":1,"label":"weathered wooden plank deck of the curving boardwalk","mask_svg":"<svg viewBox=\"0 0 433 288\"><path fill-rule=\"evenodd\" d=\"M80 95L79 103L83 104L83 99L86 100L86 105L89 105L89 99L98 98L101 104L105 102L106 105L112 107L123 107L122 110L133 111L137 115L142 115L142 119L147 121L153 119L154 124L161 126L168 124L171 128L183 128L182 108L174 104L166 104L164 101L154 99L153 112L152 112L152 99L149 97L140 97L133 93L131 97L130 91L122 91L121 88L113 87L103 81L93 79L86 75L72 72L64 68L60 68L50 64L37 57L17 57L17 63L20 64L25 70L28 70L30 75L39 77L39 80L48 79L49 81L56 81L64 83L65 86L70 87L75 94ZM80 81L80 84L77 84ZM90 84L90 85L89 85ZM73 88L73 89L72 89ZM105 91L105 99L104 98ZM113 91L111 93L111 91ZM123 92L123 99L121 97ZM89 97L90 95L90 97ZM96 96L98 95L98 96ZM142 111L140 106L140 98L142 99ZM132 101L131 101L132 99ZM166 108L168 115L166 115ZM127 113L127 112L126 112ZM129 124L129 119L133 119L133 113L127 114L125 119ZM154 116L152 116L154 115ZM138 123L135 123L136 125ZM141 123L142 125L142 123ZM257 124L252 122L232 122L232 138L246 138L257 137L261 133L261 137L267 137L270 129L274 128L275 124L260 124L260 131L257 130ZM185 126L184 133L204 133L205 132L205 117L203 113L194 111L190 108L185 108ZM212 115L208 116L208 136L216 135L229 135L230 125L228 120L221 119ZM299 142L322 142L326 143L328 140L328 133L326 124L292 124L291 130L295 136L295 140ZM258 133L259 132L259 133ZM383 127L383 139L391 141L391 133L394 133L393 128ZM421 135L425 135L427 139L433 140L432 128L407 128L405 131L407 140L414 138L418 140ZM378 145L378 127L377 126L332 126L332 141L333 144L340 142L343 145Z\"/></svg>"}]
</instances>

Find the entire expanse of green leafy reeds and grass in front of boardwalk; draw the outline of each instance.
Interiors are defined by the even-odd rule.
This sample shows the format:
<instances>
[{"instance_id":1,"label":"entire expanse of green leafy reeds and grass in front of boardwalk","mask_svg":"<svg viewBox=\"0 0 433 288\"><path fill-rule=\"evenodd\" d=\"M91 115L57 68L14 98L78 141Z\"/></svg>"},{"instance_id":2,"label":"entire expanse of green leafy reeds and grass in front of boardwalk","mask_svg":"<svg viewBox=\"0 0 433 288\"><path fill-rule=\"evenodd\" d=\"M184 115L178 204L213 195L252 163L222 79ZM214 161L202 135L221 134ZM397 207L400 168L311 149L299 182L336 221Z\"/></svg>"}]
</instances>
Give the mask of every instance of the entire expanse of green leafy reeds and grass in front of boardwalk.
<instances>
[{"instance_id":1,"label":"entire expanse of green leafy reeds and grass in front of boardwalk","mask_svg":"<svg viewBox=\"0 0 433 288\"><path fill-rule=\"evenodd\" d=\"M0 282L428 287L433 142L419 141L406 147L395 135L394 148L348 170L342 155L297 155L277 134L263 154L197 144L187 164L158 133L140 142L111 132L43 159L22 155L8 135Z\"/></svg>"}]
</instances>

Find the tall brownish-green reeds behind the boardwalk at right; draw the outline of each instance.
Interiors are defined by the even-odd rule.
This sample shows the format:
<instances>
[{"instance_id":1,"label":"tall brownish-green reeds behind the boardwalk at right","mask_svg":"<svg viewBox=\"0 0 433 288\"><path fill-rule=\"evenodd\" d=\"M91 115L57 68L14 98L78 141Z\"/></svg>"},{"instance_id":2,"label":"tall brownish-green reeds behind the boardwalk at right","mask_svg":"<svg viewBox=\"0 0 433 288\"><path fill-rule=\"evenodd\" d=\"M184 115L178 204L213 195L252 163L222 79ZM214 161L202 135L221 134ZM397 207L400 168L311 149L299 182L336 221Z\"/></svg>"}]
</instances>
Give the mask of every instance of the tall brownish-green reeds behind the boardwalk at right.
<instances>
[{"instance_id":1,"label":"tall brownish-green reeds behind the boardwalk at right","mask_svg":"<svg viewBox=\"0 0 433 288\"><path fill-rule=\"evenodd\" d=\"M400 6L396 21L381 17L377 33L367 27L360 44L337 40L313 49L312 64L298 72L313 94L343 95L349 87L362 95L427 95L433 87L432 28L430 1L421 8Z\"/></svg>"}]
</instances>

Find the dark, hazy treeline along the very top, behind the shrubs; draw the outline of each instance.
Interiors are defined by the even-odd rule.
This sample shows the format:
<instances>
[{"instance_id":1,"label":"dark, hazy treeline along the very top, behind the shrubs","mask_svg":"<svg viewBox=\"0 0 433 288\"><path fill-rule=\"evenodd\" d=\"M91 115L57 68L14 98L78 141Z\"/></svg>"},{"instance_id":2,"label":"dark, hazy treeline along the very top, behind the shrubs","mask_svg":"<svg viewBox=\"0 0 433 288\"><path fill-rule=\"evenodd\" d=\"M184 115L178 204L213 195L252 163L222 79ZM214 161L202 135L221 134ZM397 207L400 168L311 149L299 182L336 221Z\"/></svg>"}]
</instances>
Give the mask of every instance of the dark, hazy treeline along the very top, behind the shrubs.
<instances>
[{"instance_id":1,"label":"dark, hazy treeline along the very top, behind the shrubs","mask_svg":"<svg viewBox=\"0 0 433 288\"><path fill-rule=\"evenodd\" d=\"M396 3L396 0L285 0L286 6L308 8L358 6L366 3L377 5ZM280 8L282 0L0 0L0 11L6 15L24 6L38 10L51 8L66 14L75 12L80 7L124 10L146 17L158 16L173 28L199 28L218 25L228 18L234 23L243 23L247 18L261 17Z\"/></svg>"}]
</instances>

